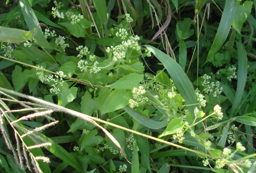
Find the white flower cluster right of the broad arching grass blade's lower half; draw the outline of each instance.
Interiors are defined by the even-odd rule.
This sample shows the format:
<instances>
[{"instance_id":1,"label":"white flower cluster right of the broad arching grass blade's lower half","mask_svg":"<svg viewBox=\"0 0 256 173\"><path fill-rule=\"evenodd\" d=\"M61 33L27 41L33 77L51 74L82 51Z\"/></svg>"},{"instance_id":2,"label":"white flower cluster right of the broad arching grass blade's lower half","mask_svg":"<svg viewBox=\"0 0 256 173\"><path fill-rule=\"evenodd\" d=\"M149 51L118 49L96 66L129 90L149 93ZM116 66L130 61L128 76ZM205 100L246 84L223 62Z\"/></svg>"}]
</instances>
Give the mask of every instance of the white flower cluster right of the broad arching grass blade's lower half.
<instances>
[{"instance_id":1,"label":"white flower cluster right of the broad arching grass blade's lower half","mask_svg":"<svg viewBox=\"0 0 256 173\"><path fill-rule=\"evenodd\" d=\"M223 87L220 87L219 81L217 81L216 83L214 82L210 83L208 79L210 79L211 77L206 74L204 74L202 78L204 79L204 81L202 82L202 85L204 86L205 93L212 93L214 97L221 94Z\"/></svg>"}]
</instances>

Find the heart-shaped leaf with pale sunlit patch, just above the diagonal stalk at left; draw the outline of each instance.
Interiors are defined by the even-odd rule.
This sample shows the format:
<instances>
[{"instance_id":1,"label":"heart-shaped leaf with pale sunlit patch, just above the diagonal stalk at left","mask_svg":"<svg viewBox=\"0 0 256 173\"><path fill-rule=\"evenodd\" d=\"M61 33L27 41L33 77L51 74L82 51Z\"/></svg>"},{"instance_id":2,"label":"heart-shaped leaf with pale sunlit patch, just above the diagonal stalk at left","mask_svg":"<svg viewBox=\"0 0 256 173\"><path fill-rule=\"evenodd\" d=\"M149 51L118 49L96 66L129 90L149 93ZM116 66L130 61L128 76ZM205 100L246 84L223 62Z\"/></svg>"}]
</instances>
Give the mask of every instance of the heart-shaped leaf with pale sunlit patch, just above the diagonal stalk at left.
<instances>
[{"instance_id":1,"label":"heart-shaped leaf with pale sunlit patch, just above the diagonal stalk at left","mask_svg":"<svg viewBox=\"0 0 256 173\"><path fill-rule=\"evenodd\" d=\"M68 84L64 82L62 89L58 93L58 105L64 107L66 104L72 102L76 98L76 92L76 87L68 88Z\"/></svg>"}]
</instances>

